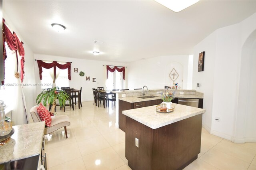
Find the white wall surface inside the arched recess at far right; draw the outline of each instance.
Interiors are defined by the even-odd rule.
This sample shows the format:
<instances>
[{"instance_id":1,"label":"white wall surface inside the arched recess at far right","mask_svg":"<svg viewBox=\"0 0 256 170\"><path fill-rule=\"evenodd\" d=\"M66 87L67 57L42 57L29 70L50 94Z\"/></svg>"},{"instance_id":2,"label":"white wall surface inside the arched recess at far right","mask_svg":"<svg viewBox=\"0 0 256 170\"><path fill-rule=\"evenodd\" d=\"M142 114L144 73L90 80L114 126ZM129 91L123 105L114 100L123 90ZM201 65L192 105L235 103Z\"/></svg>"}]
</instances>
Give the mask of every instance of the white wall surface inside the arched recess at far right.
<instances>
[{"instance_id":1,"label":"white wall surface inside the arched recess at far right","mask_svg":"<svg viewBox=\"0 0 256 170\"><path fill-rule=\"evenodd\" d=\"M256 30L249 36L242 48L242 58L240 67L239 93L237 116L235 122L236 142L243 141L244 138L248 142L255 141L256 138L256 107L255 107L255 44Z\"/></svg>"}]
</instances>

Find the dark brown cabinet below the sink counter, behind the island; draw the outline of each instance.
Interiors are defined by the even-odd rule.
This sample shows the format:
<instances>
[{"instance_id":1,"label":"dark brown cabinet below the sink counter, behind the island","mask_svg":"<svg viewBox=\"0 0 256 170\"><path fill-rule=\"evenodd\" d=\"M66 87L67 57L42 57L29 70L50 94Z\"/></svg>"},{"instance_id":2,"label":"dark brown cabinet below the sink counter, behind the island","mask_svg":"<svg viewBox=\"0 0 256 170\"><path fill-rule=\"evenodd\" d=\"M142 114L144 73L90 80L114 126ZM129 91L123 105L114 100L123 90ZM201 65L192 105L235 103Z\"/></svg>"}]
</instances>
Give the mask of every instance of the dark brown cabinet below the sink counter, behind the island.
<instances>
[{"instance_id":1,"label":"dark brown cabinet below the sink counter, behind the island","mask_svg":"<svg viewBox=\"0 0 256 170\"><path fill-rule=\"evenodd\" d=\"M119 100L119 110L118 110L119 128L125 132L126 116L122 114L122 111L130 110L130 109L137 109L140 107L159 105L160 103L162 103L162 99L141 101L141 102L135 102L135 103L130 103L127 101Z\"/></svg>"}]
</instances>

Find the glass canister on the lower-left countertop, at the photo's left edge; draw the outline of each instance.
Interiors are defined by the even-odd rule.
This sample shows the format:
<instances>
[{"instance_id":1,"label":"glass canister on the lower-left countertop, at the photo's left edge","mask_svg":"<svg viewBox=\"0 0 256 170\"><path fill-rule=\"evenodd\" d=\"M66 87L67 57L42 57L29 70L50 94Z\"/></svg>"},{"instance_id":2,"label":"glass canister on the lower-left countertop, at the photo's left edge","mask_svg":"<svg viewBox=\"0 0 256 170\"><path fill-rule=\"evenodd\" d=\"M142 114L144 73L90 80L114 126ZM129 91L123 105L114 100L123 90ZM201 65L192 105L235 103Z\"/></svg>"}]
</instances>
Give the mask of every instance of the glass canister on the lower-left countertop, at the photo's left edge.
<instances>
[{"instance_id":1,"label":"glass canister on the lower-left countertop, at the photo's left edge","mask_svg":"<svg viewBox=\"0 0 256 170\"><path fill-rule=\"evenodd\" d=\"M12 121L5 116L4 107L6 105L0 100L0 142L9 138L12 134Z\"/></svg>"}]
</instances>

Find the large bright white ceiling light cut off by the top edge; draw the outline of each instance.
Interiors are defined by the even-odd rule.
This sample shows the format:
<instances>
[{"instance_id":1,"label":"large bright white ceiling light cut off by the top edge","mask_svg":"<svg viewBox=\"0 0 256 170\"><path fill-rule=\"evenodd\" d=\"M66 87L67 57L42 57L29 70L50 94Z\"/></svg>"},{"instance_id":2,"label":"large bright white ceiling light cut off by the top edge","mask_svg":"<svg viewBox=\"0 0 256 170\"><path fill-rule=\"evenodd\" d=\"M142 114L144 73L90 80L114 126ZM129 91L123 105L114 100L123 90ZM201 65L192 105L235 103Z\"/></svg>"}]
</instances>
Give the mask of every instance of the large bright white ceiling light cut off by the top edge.
<instances>
[{"instance_id":1,"label":"large bright white ceiling light cut off by the top edge","mask_svg":"<svg viewBox=\"0 0 256 170\"><path fill-rule=\"evenodd\" d=\"M180 12L189 6L196 4L199 0L155 0L159 4L169 8L174 12Z\"/></svg>"}]
</instances>

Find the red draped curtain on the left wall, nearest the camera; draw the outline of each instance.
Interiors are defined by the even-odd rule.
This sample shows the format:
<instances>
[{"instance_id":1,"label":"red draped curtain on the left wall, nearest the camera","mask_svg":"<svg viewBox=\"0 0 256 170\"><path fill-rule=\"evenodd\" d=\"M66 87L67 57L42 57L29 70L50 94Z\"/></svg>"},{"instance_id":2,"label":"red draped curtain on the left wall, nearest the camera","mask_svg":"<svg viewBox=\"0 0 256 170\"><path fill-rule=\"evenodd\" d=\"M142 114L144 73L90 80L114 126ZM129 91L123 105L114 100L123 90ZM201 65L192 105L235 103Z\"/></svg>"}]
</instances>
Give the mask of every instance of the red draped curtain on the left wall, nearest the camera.
<instances>
[{"instance_id":1,"label":"red draped curtain on the left wall, nearest the camera","mask_svg":"<svg viewBox=\"0 0 256 170\"><path fill-rule=\"evenodd\" d=\"M5 46L4 46L4 42L7 43L8 47L13 51L15 50L15 53L16 53L16 59L17 59L17 68L18 68L18 53L17 51L19 52L19 55L21 56L21 59L20 59L20 81L23 82L23 78L24 78L24 62L25 62L25 59L24 59L24 56L25 56L25 51L24 51L24 47L23 47L23 42L20 42L18 36L16 35L15 32L12 32L9 30L9 28L5 25L5 20L3 18L3 50L4 50L4 60L7 58L7 55L6 55L6 49L5 49ZM18 72L18 70L17 70Z\"/></svg>"}]
</instances>

